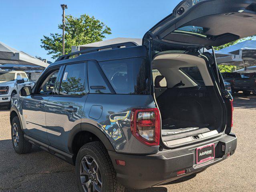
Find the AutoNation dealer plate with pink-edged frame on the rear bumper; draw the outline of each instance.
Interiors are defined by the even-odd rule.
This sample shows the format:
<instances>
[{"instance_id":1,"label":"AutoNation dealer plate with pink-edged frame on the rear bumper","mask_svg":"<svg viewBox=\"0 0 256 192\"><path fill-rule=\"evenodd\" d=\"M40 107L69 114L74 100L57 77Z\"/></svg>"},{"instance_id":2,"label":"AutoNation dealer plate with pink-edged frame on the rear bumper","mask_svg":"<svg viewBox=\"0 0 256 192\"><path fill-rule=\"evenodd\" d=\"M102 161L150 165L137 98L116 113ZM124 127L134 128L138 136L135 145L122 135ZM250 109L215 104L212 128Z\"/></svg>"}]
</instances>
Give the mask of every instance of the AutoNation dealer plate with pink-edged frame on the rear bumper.
<instances>
[{"instance_id":1,"label":"AutoNation dealer plate with pink-edged frame on the rear bumper","mask_svg":"<svg viewBox=\"0 0 256 192\"><path fill-rule=\"evenodd\" d=\"M211 150L211 152L210 152L210 150ZM200 154L202 154L203 158L199 156ZM215 158L215 144L214 143L196 148L196 164L208 162L214 158Z\"/></svg>"}]
</instances>

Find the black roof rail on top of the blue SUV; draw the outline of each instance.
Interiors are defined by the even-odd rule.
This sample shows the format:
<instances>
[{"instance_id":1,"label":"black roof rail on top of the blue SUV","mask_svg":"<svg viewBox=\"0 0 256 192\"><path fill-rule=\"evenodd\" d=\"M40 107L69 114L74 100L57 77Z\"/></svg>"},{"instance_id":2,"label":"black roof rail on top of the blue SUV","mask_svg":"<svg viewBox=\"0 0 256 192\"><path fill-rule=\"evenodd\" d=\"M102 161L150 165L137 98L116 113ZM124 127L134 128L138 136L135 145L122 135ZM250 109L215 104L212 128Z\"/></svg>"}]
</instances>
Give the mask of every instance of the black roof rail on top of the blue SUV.
<instances>
[{"instance_id":1,"label":"black roof rail on top of the blue SUV","mask_svg":"<svg viewBox=\"0 0 256 192\"><path fill-rule=\"evenodd\" d=\"M86 53L91 53L91 52L97 52L97 51L102 51L102 50L110 50L110 49L119 49L119 48L123 48L123 47L133 47L133 46L138 46L138 44L135 43L135 42L124 42L124 43L107 45L107 46L102 46L102 47L89 48L89 49L73 52L73 53L70 53L70 54L67 54L67 55L62 55L55 62L69 59L73 55L78 55L79 56L79 55L86 54Z\"/></svg>"}]
</instances>

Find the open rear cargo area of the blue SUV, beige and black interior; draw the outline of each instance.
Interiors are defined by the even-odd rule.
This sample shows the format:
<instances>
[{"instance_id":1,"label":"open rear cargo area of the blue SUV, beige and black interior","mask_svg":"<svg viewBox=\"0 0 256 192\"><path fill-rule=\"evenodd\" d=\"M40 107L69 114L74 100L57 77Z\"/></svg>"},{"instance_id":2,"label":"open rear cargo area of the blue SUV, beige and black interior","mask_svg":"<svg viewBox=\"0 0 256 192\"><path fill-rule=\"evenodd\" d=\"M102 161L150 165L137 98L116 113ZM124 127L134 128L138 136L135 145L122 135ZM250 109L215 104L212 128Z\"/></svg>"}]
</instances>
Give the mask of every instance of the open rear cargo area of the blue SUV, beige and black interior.
<instances>
[{"instance_id":1,"label":"open rear cargo area of the blue SUV, beige and black interior","mask_svg":"<svg viewBox=\"0 0 256 192\"><path fill-rule=\"evenodd\" d=\"M189 54L159 54L153 60L162 141L168 146L213 136L223 130L224 108L207 64L204 58Z\"/></svg>"}]
</instances>

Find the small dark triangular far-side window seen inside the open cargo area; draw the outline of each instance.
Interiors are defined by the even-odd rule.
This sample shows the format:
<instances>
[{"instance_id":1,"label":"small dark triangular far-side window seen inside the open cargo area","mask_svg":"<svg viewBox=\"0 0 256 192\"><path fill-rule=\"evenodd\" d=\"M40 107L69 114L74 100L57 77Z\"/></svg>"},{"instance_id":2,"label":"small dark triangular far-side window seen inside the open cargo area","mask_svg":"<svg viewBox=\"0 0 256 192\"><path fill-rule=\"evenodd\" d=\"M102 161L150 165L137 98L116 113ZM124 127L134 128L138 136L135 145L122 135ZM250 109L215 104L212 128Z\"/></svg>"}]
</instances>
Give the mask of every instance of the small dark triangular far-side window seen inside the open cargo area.
<instances>
[{"instance_id":1,"label":"small dark triangular far-side window seen inside the open cargo area","mask_svg":"<svg viewBox=\"0 0 256 192\"><path fill-rule=\"evenodd\" d=\"M191 80L193 80L199 86L205 86L204 80L200 73L198 67L181 67L179 68L183 73L185 73Z\"/></svg>"}]
</instances>

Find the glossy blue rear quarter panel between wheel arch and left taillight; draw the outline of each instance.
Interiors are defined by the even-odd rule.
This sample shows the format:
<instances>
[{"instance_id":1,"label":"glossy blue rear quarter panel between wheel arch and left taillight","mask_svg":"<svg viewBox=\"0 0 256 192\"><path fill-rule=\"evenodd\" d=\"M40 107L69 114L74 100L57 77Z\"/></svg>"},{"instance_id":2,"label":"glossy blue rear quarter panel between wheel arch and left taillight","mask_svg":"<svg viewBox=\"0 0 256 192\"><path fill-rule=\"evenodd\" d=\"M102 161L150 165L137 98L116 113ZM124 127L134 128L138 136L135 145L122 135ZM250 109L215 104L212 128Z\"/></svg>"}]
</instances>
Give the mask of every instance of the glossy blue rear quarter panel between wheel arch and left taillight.
<instances>
[{"instance_id":1,"label":"glossy blue rear quarter panel between wheel arch and left taillight","mask_svg":"<svg viewBox=\"0 0 256 192\"><path fill-rule=\"evenodd\" d=\"M92 106L102 108L100 117L91 111ZM146 146L131 134L130 117L133 108L155 108L153 97L151 95L89 94L85 103L82 123L93 124L99 128L117 152L126 154L157 153L158 146Z\"/></svg>"}]
</instances>

